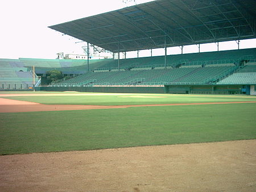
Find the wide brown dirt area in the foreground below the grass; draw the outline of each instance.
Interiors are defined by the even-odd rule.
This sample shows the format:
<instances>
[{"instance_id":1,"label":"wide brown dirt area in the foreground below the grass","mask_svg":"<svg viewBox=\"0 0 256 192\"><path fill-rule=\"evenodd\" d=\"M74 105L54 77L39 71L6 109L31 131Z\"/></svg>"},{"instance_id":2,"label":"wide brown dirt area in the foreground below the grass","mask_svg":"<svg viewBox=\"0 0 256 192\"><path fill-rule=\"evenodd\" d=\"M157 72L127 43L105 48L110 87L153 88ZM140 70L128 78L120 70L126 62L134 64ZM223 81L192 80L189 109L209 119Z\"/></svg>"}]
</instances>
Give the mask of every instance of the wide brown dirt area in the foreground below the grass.
<instances>
[{"instance_id":1,"label":"wide brown dirt area in the foreground below the grass","mask_svg":"<svg viewBox=\"0 0 256 192\"><path fill-rule=\"evenodd\" d=\"M256 140L0 156L0 191L256 191Z\"/></svg>"}]
</instances>

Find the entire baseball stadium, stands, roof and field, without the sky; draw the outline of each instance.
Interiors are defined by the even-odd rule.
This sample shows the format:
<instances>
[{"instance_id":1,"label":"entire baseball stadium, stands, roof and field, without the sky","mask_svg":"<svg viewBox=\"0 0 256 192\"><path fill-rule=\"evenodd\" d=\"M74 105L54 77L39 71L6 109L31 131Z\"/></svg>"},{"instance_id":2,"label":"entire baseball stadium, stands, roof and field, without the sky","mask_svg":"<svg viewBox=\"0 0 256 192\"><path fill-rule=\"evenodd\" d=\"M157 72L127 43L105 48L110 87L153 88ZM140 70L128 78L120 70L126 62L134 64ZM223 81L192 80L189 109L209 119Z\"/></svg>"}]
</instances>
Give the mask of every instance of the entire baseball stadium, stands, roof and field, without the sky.
<instances>
[{"instance_id":1,"label":"entire baseball stadium, stands, roof and field, without the sky","mask_svg":"<svg viewBox=\"0 0 256 192\"><path fill-rule=\"evenodd\" d=\"M256 191L255 7L141 3L49 26L85 59L0 59L0 191Z\"/></svg>"}]
</instances>

